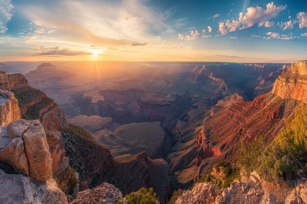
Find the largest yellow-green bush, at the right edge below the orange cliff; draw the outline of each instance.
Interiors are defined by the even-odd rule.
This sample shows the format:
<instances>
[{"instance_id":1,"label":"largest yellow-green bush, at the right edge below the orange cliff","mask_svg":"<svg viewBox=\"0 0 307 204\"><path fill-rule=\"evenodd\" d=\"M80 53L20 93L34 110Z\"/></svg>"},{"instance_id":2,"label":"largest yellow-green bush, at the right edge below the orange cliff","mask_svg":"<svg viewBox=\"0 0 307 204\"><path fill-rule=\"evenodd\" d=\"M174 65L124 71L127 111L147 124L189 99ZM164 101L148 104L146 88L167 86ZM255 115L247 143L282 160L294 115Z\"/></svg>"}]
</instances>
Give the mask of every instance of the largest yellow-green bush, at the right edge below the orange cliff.
<instances>
[{"instance_id":1,"label":"largest yellow-green bush, at the right edge below the orange cliff","mask_svg":"<svg viewBox=\"0 0 307 204\"><path fill-rule=\"evenodd\" d=\"M298 169L306 171L307 162L307 105L303 104L288 119L286 128L269 144L262 155L259 172L267 180L291 182Z\"/></svg>"}]
</instances>

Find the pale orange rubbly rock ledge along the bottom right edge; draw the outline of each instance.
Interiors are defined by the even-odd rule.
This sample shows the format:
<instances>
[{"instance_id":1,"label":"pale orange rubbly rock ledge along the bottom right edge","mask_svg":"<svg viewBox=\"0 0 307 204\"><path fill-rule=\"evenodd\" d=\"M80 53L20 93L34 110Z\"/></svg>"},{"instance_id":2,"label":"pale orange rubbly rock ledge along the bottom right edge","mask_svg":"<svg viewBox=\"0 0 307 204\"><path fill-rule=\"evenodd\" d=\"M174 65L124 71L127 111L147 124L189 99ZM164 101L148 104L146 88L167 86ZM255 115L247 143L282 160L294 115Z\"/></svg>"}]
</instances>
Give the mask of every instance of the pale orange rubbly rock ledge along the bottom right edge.
<instances>
[{"instance_id":1,"label":"pale orange rubbly rock ledge along the bottom right edge","mask_svg":"<svg viewBox=\"0 0 307 204\"><path fill-rule=\"evenodd\" d=\"M221 190L211 183L196 183L177 198L176 204L304 204L307 202L307 182L303 178L297 182L291 188L262 181L252 172L250 178L231 182L230 187Z\"/></svg>"}]
</instances>

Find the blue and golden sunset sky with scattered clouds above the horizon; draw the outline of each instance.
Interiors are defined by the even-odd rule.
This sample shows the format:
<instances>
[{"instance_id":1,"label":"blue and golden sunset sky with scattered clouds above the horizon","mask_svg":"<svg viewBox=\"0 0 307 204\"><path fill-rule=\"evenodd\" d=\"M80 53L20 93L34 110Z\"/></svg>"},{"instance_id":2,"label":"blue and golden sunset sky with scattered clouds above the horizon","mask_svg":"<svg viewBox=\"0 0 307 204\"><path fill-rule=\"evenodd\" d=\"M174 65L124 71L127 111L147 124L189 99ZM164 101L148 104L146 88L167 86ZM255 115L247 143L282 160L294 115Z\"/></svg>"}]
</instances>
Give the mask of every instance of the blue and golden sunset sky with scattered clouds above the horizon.
<instances>
[{"instance_id":1,"label":"blue and golden sunset sky with scattered clouds above the horizon","mask_svg":"<svg viewBox=\"0 0 307 204\"><path fill-rule=\"evenodd\" d=\"M307 0L0 0L0 62L307 60Z\"/></svg>"}]
</instances>

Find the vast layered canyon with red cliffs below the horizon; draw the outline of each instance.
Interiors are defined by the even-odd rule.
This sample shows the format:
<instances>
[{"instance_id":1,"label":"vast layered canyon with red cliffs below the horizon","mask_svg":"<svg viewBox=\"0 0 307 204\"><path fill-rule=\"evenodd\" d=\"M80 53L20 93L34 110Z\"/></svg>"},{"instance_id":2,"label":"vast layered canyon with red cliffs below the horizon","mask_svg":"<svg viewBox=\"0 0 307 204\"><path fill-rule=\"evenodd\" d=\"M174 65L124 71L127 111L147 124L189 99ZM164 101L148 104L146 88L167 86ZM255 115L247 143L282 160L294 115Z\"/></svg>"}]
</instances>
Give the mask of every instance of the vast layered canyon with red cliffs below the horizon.
<instances>
[{"instance_id":1,"label":"vast layered canyon with red cliffs below the horizon","mask_svg":"<svg viewBox=\"0 0 307 204\"><path fill-rule=\"evenodd\" d=\"M34 197L37 189L81 204L100 194L115 202L143 186L153 187L165 203L174 189L191 186L218 161L235 162L239 144L261 135L270 143L307 100L306 61L157 65L91 84L77 80L84 76L73 69L50 63L26 74L29 78L1 72L0 174L22 181L26 199L34 203L43 202ZM35 160L36 154L45 159ZM37 162L43 168L36 169ZM228 192L237 193L231 190L245 186L240 182ZM228 194L211 185L195 185L176 203L197 192L211 195L203 203L226 202ZM270 198L265 196L251 198L261 203Z\"/></svg>"}]
</instances>

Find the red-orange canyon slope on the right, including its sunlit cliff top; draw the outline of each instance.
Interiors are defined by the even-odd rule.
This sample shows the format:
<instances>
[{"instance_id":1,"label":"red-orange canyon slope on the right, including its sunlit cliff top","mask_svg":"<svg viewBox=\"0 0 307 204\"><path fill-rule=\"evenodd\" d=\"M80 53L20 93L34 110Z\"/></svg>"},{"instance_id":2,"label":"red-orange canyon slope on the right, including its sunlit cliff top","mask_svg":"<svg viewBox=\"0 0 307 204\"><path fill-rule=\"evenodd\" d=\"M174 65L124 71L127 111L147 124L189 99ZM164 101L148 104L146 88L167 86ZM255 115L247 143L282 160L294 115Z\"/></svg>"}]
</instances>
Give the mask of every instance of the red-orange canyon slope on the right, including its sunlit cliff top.
<instances>
[{"instance_id":1,"label":"red-orange canyon slope on the right, including its sunlit cliff top","mask_svg":"<svg viewBox=\"0 0 307 204\"><path fill-rule=\"evenodd\" d=\"M241 98L228 102L228 105L220 106L219 102L212 107L197 137L200 149L196 179L221 159L234 161L237 145L241 142L249 144L264 135L269 143L278 135L284 119L291 116L302 102L307 102L305 68L305 61L292 64L276 79L271 92L257 96L253 101Z\"/></svg>"}]
</instances>

